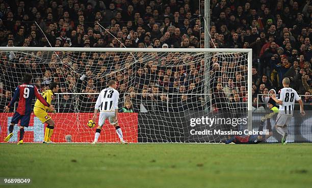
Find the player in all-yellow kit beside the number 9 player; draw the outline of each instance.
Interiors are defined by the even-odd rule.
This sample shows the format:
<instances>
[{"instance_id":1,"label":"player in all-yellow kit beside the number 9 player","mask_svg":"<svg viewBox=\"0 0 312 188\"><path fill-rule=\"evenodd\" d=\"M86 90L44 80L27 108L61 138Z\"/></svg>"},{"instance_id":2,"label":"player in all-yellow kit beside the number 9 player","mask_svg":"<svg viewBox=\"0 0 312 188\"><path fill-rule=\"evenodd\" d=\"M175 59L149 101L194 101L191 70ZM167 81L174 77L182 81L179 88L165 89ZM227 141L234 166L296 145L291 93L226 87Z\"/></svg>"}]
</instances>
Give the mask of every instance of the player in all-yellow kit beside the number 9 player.
<instances>
[{"instance_id":1,"label":"player in all-yellow kit beside the number 9 player","mask_svg":"<svg viewBox=\"0 0 312 188\"><path fill-rule=\"evenodd\" d=\"M54 93L58 92L58 90L59 84L56 82L51 82L49 89L45 90L41 95L48 104L51 104ZM53 134L55 122L51 119L47 112L55 113L55 111L49 111L47 107L45 107L39 100L37 100L34 107L34 114L40 119L42 123L47 124L44 132L43 143L52 143L50 139Z\"/></svg>"}]
</instances>

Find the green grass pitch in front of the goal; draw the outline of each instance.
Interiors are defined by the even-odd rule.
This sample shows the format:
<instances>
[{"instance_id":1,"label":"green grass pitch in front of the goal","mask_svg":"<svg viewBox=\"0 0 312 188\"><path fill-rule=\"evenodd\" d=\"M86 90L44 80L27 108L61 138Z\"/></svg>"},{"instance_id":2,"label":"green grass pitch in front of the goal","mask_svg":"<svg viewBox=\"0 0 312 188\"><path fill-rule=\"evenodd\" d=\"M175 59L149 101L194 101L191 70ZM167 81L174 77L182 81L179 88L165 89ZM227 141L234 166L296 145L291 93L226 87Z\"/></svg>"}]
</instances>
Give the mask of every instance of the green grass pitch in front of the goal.
<instances>
[{"instance_id":1,"label":"green grass pitch in front of the goal","mask_svg":"<svg viewBox=\"0 0 312 188\"><path fill-rule=\"evenodd\" d=\"M0 187L311 187L312 144L0 144Z\"/></svg>"}]
</instances>

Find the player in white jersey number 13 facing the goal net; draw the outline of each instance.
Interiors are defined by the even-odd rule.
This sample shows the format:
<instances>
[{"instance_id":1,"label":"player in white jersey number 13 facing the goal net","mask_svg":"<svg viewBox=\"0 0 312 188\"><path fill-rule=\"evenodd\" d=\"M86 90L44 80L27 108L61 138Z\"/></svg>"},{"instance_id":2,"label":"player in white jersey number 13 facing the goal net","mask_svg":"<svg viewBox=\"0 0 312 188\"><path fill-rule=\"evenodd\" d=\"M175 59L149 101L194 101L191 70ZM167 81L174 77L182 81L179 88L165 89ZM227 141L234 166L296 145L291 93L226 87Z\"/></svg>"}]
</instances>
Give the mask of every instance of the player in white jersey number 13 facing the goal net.
<instances>
[{"instance_id":1,"label":"player in white jersey number 13 facing the goal net","mask_svg":"<svg viewBox=\"0 0 312 188\"><path fill-rule=\"evenodd\" d=\"M108 118L110 123L115 126L116 133L120 139L120 142L125 144L123 140L122 131L118 126L118 99L119 92L116 90L116 82L110 80L108 82L109 87L101 90L94 108L94 115L92 121L95 122L97 117L97 112L99 112L98 127L95 131L94 141L92 144L96 144L98 137L101 133L101 129L105 120Z\"/></svg>"}]
</instances>

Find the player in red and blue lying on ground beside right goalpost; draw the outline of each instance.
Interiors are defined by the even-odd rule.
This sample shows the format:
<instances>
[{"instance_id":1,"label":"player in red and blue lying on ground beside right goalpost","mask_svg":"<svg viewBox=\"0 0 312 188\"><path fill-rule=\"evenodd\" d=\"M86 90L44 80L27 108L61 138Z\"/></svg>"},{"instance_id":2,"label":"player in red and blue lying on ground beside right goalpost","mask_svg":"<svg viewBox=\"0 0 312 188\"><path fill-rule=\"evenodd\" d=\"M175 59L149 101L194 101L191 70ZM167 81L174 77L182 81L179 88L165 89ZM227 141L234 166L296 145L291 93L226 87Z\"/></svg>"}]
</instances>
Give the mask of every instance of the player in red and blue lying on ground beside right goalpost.
<instances>
[{"instance_id":1,"label":"player in red and blue lying on ground beside right goalpost","mask_svg":"<svg viewBox=\"0 0 312 188\"><path fill-rule=\"evenodd\" d=\"M270 108L270 113L261 118L261 124L258 128L258 132L263 131L264 123L266 120L268 120L267 124L267 129L269 131L268 135L247 135L247 136L236 135L226 140L225 144L229 144L231 142L236 144L258 144L270 138L273 135L270 119L273 118L274 115L278 113L278 108L275 106L275 101L272 98L269 99L268 106Z\"/></svg>"}]
</instances>

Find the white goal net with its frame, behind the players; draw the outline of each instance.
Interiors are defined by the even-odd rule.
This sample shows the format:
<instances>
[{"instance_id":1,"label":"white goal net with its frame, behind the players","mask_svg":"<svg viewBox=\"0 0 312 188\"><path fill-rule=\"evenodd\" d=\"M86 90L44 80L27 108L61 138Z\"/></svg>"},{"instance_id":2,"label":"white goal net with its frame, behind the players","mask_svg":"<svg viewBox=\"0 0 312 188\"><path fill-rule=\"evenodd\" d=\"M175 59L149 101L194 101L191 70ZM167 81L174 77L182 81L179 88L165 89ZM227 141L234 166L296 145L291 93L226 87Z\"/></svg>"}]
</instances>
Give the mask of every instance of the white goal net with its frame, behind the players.
<instances>
[{"instance_id":1,"label":"white goal net with its frame, behind the players","mask_svg":"<svg viewBox=\"0 0 312 188\"><path fill-rule=\"evenodd\" d=\"M52 102L57 113L50 114L54 142L93 141L96 128L87 122L98 93L113 79L127 142L218 143L227 138L224 132L248 129L250 60L248 49L1 48L0 141L17 103L10 113L3 109L23 74L31 73L40 92L59 83ZM45 126L32 115L24 141L42 142ZM16 125L12 142L17 132ZM99 142L117 141L106 121Z\"/></svg>"}]
</instances>

